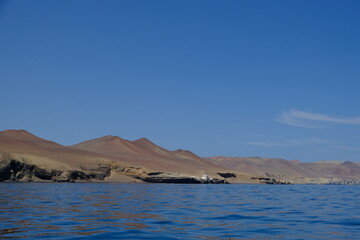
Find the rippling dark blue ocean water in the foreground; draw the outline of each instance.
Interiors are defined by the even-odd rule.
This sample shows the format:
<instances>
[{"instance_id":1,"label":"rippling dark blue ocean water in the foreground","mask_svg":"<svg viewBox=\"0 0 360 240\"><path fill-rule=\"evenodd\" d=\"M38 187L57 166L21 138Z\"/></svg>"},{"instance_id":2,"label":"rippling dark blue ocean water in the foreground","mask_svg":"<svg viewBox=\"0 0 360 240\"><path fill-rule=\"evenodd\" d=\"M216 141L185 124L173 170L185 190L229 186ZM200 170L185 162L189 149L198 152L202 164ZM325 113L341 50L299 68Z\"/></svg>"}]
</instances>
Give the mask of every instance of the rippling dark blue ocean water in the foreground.
<instances>
[{"instance_id":1,"label":"rippling dark blue ocean water in the foreground","mask_svg":"<svg viewBox=\"0 0 360 240\"><path fill-rule=\"evenodd\" d=\"M360 239L360 186L1 183L0 239Z\"/></svg>"}]
</instances>

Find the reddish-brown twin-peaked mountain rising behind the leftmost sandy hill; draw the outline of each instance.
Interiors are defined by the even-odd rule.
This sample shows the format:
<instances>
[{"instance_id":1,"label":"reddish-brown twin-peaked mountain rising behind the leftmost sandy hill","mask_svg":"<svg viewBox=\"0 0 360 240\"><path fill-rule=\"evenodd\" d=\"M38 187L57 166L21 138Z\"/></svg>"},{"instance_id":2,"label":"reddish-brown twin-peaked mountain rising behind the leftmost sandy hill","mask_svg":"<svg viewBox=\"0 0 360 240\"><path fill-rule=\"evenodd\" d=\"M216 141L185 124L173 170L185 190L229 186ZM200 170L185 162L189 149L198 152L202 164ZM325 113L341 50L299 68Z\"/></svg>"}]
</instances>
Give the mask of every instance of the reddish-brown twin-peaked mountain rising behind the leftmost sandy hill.
<instances>
[{"instance_id":1,"label":"reddish-brown twin-peaked mountain rising behind the leftmost sandy hill","mask_svg":"<svg viewBox=\"0 0 360 240\"><path fill-rule=\"evenodd\" d=\"M71 147L103 154L128 164L143 166L155 171L180 172L193 175L225 171L224 167L204 160L190 151L169 151L146 138L129 141L117 136L105 136Z\"/></svg>"}]
</instances>

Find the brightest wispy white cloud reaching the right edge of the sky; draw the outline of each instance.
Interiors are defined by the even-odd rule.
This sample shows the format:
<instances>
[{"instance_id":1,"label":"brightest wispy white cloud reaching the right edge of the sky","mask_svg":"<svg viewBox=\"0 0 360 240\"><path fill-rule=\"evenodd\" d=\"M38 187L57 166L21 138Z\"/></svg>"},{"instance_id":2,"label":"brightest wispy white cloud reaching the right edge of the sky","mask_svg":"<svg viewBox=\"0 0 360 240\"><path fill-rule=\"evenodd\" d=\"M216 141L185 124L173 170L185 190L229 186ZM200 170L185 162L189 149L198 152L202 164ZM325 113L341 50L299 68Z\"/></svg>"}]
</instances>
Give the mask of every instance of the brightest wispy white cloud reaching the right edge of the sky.
<instances>
[{"instance_id":1,"label":"brightest wispy white cloud reaching the right edge of the sky","mask_svg":"<svg viewBox=\"0 0 360 240\"><path fill-rule=\"evenodd\" d=\"M360 124L360 117L339 118L291 109L283 112L276 121L297 127L320 128L321 123Z\"/></svg>"}]
</instances>

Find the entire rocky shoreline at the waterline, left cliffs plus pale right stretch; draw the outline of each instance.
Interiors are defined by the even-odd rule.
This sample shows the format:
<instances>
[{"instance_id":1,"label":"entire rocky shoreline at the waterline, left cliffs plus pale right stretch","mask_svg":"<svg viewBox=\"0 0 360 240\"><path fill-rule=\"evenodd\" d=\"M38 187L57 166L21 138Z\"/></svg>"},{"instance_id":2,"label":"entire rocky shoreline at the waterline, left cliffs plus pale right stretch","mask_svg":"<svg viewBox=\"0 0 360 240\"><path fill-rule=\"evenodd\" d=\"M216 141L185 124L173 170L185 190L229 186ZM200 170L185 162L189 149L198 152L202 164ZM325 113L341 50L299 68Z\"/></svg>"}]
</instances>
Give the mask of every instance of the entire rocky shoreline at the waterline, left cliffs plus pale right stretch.
<instances>
[{"instance_id":1,"label":"entire rocky shoreline at the waterline, left cliffs plus pale right stretch","mask_svg":"<svg viewBox=\"0 0 360 240\"><path fill-rule=\"evenodd\" d=\"M99 164L97 168L58 170L40 168L15 159L0 161L0 182L103 182L112 173L118 173L143 183L182 183L182 184L228 184L228 178L235 179L234 173L217 173L219 178L206 174L202 177L170 172L147 172L142 167L133 167L119 163ZM307 178L286 175L266 174L263 177L252 177L260 184L331 184L360 185L358 178Z\"/></svg>"}]
</instances>

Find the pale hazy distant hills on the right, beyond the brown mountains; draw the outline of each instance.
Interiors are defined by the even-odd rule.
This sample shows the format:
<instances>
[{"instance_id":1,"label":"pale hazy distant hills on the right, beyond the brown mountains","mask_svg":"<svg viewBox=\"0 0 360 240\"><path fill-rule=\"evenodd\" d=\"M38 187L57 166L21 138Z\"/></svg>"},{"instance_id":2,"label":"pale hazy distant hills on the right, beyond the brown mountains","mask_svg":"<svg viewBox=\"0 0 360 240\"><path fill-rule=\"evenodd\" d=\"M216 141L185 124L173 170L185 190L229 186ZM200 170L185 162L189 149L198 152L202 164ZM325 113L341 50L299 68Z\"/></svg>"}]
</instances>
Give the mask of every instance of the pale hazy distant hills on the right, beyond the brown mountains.
<instances>
[{"instance_id":1,"label":"pale hazy distant hills on the right, beyond the brown mountains","mask_svg":"<svg viewBox=\"0 0 360 240\"><path fill-rule=\"evenodd\" d=\"M349 161L300 162L279 158L208 157L222 167L290 183L359 184L360 163Z\"/></svg>"}]
</instances>

